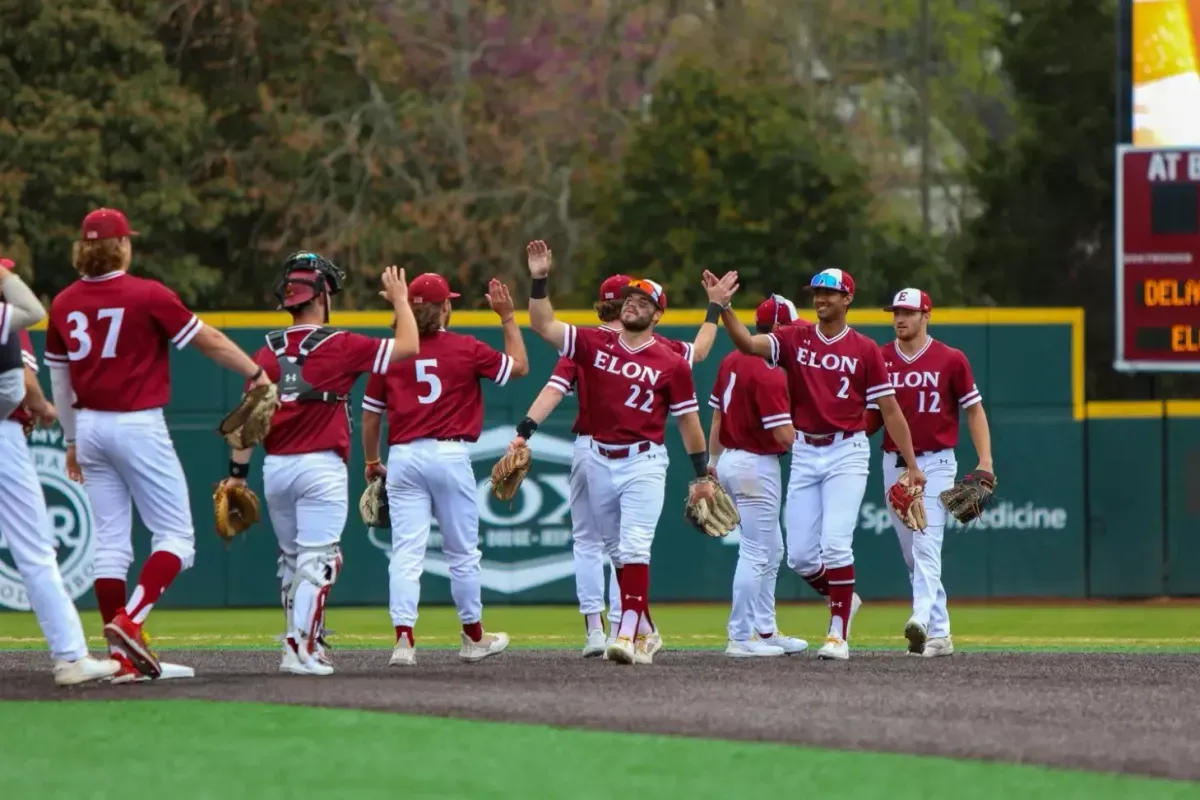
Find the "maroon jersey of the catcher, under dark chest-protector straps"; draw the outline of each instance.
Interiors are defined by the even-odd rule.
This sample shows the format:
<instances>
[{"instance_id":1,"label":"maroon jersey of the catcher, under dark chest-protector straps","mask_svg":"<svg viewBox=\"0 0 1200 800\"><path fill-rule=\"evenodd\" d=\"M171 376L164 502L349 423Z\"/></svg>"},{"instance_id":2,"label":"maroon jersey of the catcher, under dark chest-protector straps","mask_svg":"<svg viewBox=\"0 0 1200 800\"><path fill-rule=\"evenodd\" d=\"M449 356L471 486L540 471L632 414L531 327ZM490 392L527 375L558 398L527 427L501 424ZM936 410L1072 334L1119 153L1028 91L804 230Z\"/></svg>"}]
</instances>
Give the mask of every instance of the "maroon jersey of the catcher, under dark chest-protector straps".
<instances>
[{"instance_id":1,"label":"maroon jersey of the catcher, under dark chest-protector straps","mask_svg":"<svg viewBox=\"0 0 1200 800\"><path fill-rule=\"evenodd\" d=\"M350 458L349 393L365 372L382 375L391 365L392 339L377 339L318 325L293 325L266 336L256 363L278 385L280 408L263 441L269 456L335 451ZM298 365L299 380L288 380L280 357ZM292 372L290 369L288 371ZM300 386L289 385L300 383ZM247 383L248 387L248 383Z\"/></svg>"}]
</instances>

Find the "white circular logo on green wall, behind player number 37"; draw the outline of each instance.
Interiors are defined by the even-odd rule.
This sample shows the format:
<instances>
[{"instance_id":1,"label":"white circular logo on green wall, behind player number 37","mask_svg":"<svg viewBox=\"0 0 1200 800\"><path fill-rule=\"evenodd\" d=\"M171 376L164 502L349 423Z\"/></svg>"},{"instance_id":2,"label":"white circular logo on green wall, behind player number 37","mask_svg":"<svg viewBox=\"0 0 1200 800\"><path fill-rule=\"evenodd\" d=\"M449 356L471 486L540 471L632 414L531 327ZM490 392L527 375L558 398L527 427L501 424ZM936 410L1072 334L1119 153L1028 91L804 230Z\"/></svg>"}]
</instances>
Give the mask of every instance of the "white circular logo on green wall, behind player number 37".
<instances>
[{"instance_id":1,"label":"white circular logo on green wall, behind player number 37","mask_svg":"<svg viewBox=\"0 0 1200 800\"><path fill-rule=\"evenodd\" d=\"M40 438L42 431L35 431ZM91 547L92 517L91 505L84 488L67 479L66 451L61 447L30 445L30 457L37 471L37 479L46 497L46 510L49 530L37 535L50 536L58 551L59 571L62 583L72 600L82 597L92 581ZM6 481L12 487L12 481ZM30 519L30 525L32 525ZM29 610L29 593L17 571L12 553L12 534L7 525L0 527L0 606L14 610Z\"/></svg>"}]
</instances>

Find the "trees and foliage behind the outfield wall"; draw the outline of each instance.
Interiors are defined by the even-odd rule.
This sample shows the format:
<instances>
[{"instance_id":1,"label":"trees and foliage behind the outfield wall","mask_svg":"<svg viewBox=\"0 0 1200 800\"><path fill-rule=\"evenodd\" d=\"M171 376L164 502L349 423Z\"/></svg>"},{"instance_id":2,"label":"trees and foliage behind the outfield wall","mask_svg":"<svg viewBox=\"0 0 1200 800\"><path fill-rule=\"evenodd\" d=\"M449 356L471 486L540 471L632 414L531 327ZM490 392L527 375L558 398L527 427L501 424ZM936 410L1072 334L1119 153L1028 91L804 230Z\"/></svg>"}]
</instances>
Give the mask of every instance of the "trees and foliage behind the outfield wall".
<instances>
[{"instance_id":1,"label":"trees and foliage behind the outfield wall","mask_svg":"<svg viewBox=\"0 0 1200 800\"><path fill-rule=\"evenodd\" d=\"M1109 366L1115 0L920 7L0 0L0 252L50 296L118 206L137 270L227 309L301 247L349 308L388 264L520 294L535 237L572 305L613 271L701 305L706 267L803 301L842 266L862 303L1084 305L1090 396L1194 391Z\"/></svg>"}]
</instances>

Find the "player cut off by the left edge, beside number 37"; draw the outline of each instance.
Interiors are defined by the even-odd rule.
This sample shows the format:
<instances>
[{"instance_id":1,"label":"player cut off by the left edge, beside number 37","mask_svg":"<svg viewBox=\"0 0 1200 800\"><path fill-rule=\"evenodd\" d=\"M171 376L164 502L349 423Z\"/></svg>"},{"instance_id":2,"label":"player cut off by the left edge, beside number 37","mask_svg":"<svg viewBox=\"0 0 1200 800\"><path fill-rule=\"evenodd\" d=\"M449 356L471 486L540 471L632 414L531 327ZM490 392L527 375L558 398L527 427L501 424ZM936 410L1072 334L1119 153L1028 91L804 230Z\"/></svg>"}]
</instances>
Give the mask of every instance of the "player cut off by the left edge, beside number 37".
<instances>
[{"instance_id":1,"label":"player cut off by the left edge, beside number 37","mask_svg":"<svg viewBox=\"0 0 1200 800\"><path fill-rule=\"evenodd\" d=\"M37 361L28 327L46 309L25 283L0 259L0 535L25 584L29 604L46 636L60 686L110 678L120 669L112 660L88 652L79 612L59 571L46 495L25 439L36 419L54 421L54 407L37 386Z\"/></svg>"}]
</instances>

